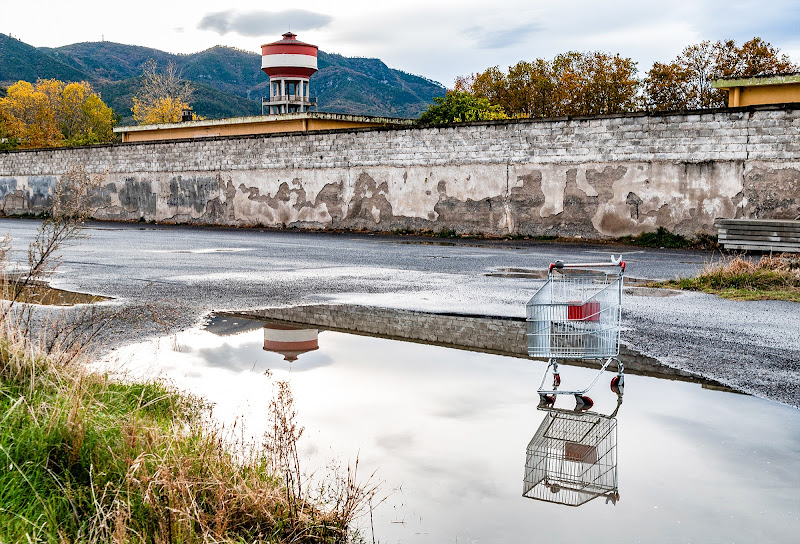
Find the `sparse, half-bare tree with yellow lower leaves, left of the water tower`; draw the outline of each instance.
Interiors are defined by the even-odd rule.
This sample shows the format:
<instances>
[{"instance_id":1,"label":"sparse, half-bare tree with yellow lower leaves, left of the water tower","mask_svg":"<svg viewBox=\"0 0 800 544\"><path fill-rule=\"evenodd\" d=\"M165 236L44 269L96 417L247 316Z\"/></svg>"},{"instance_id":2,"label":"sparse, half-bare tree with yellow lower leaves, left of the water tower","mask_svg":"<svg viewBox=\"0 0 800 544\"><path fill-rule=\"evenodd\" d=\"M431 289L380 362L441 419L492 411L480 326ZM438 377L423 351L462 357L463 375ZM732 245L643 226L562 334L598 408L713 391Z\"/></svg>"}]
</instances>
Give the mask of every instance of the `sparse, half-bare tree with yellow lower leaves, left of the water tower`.
<instances>
[{"instance_id":1,"label":"sparse, half-bare tree with yellow lower leaves, left of the water tower","mask_svg":"<svg viewBox=\"0 0 800 544\"><path fill-rule=\"evenodd\" d=\"M177 123L192 97L191 84L181 78L175 63L164 70L155 60L144 63L142 84L133 97L133 119L140 125Z\"/></svg>"}]
</instances>

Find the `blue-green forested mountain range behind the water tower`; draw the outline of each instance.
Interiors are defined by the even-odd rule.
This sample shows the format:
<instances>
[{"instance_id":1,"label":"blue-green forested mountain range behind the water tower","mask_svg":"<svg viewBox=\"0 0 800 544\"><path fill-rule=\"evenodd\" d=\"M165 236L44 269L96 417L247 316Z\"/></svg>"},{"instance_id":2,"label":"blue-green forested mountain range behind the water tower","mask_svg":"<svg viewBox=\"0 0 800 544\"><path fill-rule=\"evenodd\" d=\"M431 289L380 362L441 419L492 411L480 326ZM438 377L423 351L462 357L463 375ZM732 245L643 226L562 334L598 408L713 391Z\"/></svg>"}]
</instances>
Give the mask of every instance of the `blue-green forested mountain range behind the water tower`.
<instances>
[{"instance_id":1,"label":"blue-green forested mountain range behind the water tower","mask_svg":"<svg viewBox=\"0 0 800 544\"><path fill-rule=\"evenodd\" d=\"M261 71L261 56L216 46L190 55L113 42L84 42L56 48L36 48L0 34L0 86L17 80L57 78L92 83L103 100L131 118L138 76L148 59L174 62L194 83L192 105L210 119L258 115L261 97L269 93L269 78ZM440 83L394 70L379 59L351 58L319 52L319 71L311 77L311 93L319 111L417 117L433 97L445 93Z\"/></svg>"}]
</instances>

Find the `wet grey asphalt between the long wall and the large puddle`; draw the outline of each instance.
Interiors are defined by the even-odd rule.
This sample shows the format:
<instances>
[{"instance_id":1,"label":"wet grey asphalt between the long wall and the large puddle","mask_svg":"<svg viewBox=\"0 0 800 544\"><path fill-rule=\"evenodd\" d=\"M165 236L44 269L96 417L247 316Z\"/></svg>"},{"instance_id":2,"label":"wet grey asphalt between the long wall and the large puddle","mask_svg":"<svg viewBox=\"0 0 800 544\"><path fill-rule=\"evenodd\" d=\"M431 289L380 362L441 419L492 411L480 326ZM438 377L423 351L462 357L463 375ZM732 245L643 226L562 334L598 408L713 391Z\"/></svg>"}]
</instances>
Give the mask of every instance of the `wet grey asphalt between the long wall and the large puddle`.
<instances>
[{"instance_id":1,"label":"wet grey asphalt between the long wall and the large puddle","mask_svg":"<svg viewBox=\"0 0 800 544\"><path fill-rule=\"evenodd\" d=\"M0 219L11 261L27 260L39 222ZM51 284L113 297L104 347L174 332L211 311L311 303L524 316L550 262L622 255L626 277L691 276L704 251L534 241L91 223L61 251ZM628 281L623 340L673 367L800 407L800 304L737 302ZM663 295L670 296L663 296ZM120 311L121 310L121 311ZM167 324L159 313L171 318Z\"/></svg>"}]
</instances>

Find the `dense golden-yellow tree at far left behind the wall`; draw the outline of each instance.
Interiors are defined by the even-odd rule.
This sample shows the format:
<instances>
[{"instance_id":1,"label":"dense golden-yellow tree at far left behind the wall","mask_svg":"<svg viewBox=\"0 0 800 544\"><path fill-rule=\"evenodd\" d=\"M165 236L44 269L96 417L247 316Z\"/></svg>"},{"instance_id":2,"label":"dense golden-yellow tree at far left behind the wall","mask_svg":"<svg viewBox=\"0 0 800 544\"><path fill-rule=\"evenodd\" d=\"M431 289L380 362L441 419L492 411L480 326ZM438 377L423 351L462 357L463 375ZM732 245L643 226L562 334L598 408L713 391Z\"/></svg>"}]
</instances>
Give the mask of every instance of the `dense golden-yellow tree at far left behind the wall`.
<instances>
[{"instance_id":1,"label":"dense golden-yellow tree at far left behind the wall","mask_svg":"<svg viewBox=\"0 0 800 544\"><path fill-rule=\"evenodd\" d=\"M4 136L23 148L110 142L114 123L114 112L85 81L18 81L0 98Z\"/></svg>"}]
</instances>

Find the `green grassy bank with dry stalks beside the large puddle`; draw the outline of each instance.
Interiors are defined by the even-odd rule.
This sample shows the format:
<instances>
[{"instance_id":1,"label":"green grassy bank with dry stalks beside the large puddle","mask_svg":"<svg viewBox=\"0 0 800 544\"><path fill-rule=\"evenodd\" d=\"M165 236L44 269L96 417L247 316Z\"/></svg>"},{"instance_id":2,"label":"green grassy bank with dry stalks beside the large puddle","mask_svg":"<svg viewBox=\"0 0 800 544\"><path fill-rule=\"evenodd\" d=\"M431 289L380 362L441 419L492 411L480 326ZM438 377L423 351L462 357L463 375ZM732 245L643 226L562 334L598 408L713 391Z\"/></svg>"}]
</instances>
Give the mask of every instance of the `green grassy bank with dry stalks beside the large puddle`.
<instances>
[{"instance_id":1,"label":"green grassy bank with dry stalks beside the large puddle","mask_svg":"<svg viewBox=\"0 0 800 544\"><path fill-rule=\"evenodd\" d=\"M358 488L347 482L350 492L326 505L309 500L299 474L282 470L299 437L292 428L236 456L197 399L89 373L5 332L0 542L348 538Z\"/></svg>"}]
</instances>

